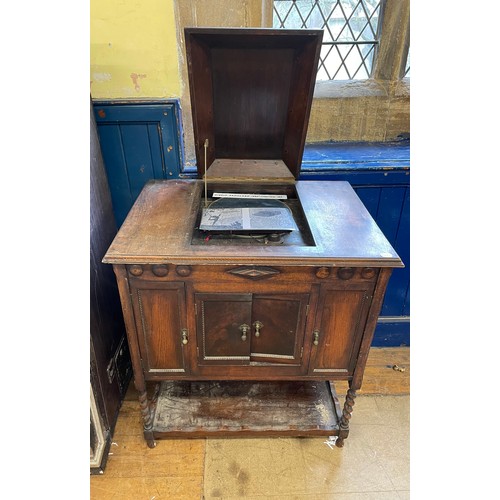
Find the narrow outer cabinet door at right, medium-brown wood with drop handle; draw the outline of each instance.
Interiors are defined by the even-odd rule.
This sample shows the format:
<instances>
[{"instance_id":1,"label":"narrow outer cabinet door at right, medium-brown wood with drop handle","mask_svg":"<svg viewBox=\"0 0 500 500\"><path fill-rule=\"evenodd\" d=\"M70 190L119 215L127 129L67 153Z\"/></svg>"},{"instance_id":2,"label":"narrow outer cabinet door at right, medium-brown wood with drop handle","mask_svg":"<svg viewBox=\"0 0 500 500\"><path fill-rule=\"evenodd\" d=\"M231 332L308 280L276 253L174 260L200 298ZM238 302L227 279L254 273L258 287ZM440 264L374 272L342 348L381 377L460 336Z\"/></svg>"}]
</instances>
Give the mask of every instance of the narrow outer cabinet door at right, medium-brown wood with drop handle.
<instances>
[{"instance_id":1,"label":"narrow outer cabinet door at right, medium-brown wood with drop handle","mask_svg":"<svg viewBox=\"0 0 500 500\"><path fill-rule=\"evenodd\" d=\"M366 323L370 295L366 288L322 286L312 342L311 374L352 373Z\"/></svg>"}]
</instances>

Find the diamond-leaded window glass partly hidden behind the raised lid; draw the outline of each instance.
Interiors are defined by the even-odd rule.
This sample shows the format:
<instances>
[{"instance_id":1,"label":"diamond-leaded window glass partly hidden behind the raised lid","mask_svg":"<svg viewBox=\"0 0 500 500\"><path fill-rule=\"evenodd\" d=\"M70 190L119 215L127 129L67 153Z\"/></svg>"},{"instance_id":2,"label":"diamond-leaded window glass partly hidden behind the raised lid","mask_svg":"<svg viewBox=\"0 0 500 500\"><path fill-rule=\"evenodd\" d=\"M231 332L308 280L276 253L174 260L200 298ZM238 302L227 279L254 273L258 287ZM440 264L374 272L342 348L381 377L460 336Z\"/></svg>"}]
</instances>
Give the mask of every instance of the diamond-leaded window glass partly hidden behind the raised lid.
<instances>
[{"instance_id":1,"label":"diamond-leaded window glass partly hidden behind the raised lid","mask_svg":"<svg viewBox=\"0 0 500 500\"><path fill-rule=\"evenodd\" d=\"M383 0L274 0L273 27L322 29L316 80L369 78Z\"/></svg>"}]
</instances>

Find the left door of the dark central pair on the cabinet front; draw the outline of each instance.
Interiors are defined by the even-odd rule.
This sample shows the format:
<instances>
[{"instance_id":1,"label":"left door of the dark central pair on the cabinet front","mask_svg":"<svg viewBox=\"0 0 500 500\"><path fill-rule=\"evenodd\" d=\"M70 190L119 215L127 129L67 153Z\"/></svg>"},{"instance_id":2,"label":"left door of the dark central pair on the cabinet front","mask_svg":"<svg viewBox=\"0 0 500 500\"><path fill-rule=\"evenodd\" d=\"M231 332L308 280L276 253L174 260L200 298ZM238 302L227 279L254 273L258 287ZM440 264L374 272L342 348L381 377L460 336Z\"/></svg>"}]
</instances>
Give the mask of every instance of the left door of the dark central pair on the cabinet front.
<instances>
[{"instance_id":1,"label":"left door of the dark central pair on the cabinet front","mask_svg":"<svg viewBox=\"0 0 500 500\"><path fill-rule=\"evenodd\" d=\"M200 364L248 363L252 294L196 293Z\"/></svg>"}]
</instances>

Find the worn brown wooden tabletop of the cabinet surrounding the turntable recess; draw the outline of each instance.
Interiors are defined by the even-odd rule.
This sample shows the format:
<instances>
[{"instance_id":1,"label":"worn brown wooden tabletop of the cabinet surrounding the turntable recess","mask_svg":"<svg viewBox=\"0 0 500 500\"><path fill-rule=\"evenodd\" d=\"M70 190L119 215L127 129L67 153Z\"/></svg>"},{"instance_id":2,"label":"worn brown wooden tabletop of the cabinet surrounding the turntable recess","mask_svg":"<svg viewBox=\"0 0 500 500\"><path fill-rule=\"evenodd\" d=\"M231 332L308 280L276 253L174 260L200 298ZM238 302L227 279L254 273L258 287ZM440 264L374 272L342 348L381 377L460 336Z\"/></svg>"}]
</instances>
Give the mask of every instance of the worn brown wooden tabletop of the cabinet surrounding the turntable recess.
<instances>
[{"instance_id":1,"label":"worn brown wooden tabletop of the cabinet surrounding the turntable recess","mask_svg":"<svg viewBox=\"0 0 500 500\"><path fill-rule=\"evenodd\" d=\"M144 186L103 262L403 267L348 182L295 184L314 242L305 245L193 244L201 180Z\"/></svg>"}]
</instances>

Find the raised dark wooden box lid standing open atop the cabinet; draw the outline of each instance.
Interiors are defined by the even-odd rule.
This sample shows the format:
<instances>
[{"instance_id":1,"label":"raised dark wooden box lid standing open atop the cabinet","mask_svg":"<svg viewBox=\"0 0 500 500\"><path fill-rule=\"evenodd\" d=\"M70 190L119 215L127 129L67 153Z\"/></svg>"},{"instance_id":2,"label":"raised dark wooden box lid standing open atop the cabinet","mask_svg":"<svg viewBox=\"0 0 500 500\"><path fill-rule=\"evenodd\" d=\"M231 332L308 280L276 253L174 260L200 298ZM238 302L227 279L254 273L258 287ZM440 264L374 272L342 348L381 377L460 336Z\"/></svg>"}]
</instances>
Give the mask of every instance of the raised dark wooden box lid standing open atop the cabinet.
<instances>
[{"instance_id":1,"label":"raised dark wooden box lid standing open atop the cabinet","mask_svg":"<svg viewBox=\"0 0 500 500\"><path fill-rule=\"evenodd\" d=\"M294 182L321 30L185 28L198 176Z\"/></svg>"}]
</instances>

